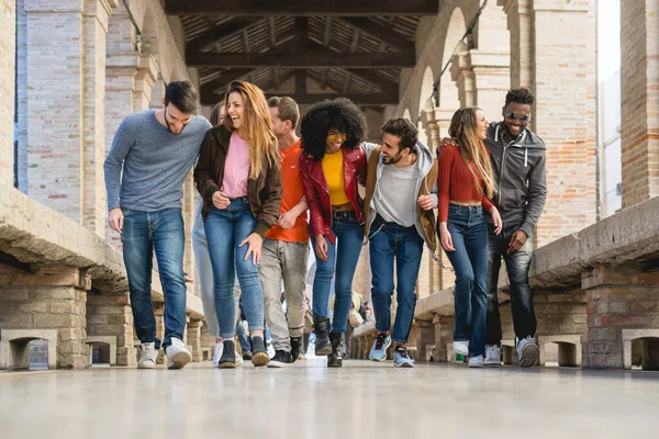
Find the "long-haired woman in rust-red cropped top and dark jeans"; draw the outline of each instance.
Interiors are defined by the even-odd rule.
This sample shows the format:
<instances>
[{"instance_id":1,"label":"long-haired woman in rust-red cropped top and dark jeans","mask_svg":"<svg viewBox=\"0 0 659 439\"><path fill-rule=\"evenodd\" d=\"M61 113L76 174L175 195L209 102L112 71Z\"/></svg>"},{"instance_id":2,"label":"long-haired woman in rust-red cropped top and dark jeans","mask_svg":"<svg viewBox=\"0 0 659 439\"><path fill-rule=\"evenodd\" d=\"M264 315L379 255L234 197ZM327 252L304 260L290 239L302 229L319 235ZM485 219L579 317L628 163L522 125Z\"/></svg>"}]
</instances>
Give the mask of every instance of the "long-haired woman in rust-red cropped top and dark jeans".
<instances>
[{"instance_id":1,"label":"long-haired woman in rust-red cropped top and dark jeans","mask_svg":"<svg viewBox=\"0 0 659 439\"><path fill-rule=\"evenodd\" d=\"M449 136L458 146L439 150L438 234L455 272L454 350L469 356L469 367L483 365L488 311L488 226L483 212L492 215L495 233L501 217L490 202L494 178L483 144L489 123L480 109L458 110Z\"/></svg>"}]
</instances>

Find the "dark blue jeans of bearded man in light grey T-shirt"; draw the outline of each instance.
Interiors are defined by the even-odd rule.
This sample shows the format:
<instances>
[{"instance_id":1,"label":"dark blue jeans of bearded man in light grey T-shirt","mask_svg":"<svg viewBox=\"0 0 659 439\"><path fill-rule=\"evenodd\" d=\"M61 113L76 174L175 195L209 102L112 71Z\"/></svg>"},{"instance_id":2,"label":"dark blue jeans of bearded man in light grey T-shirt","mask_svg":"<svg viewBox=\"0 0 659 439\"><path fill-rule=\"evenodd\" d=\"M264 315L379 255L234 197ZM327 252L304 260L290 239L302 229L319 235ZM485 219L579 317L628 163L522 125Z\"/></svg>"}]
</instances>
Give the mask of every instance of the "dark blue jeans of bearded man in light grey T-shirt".
<instances>
[{"instance_id":1,"label":"dark blue jeans of bearded man in light grey T-shirt","mask_svg":"<svg viewBox=\"0 0 659 439\"><path fill-rule=\"evenodd\" d=\"M393 295L393 259L395 257L398 308L391 338L398 344L407 342L414 306L416 279L421 268L423 238L416 227L384 223L378 216L369 233L369 252L372 274L371 296L376 313L376 328L387 333L391 328L391 297Z\"/></svg>"}]
</instances>

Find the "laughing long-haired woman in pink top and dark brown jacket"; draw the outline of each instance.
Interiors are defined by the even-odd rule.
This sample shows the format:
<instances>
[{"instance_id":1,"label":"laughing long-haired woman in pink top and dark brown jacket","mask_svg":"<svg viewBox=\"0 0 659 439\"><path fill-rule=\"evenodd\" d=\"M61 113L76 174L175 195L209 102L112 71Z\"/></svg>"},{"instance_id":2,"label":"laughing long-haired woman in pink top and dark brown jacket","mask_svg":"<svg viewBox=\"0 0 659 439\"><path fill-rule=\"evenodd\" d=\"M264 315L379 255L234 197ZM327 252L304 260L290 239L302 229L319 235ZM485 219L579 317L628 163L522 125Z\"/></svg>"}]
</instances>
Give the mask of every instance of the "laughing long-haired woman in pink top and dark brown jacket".
<instances>
[{"instance_id":1,"label":"laughing long-haired woman in pink top and dark brown jacket","mask_svg":"<svg viewBox=\"0 0 659 439\"><path fill-rule=\"evenodd\" d=\"M227 119L206 133L194 168L203 198L202 217L213 266L215 309L224 349L220 368L235 368L238 277L252 336L252 362L267 365L264 293L258 277L264 235L279 219L281 172L277 138L264 92L233 81L224 100Z\"/></svg>"}]
</instances>

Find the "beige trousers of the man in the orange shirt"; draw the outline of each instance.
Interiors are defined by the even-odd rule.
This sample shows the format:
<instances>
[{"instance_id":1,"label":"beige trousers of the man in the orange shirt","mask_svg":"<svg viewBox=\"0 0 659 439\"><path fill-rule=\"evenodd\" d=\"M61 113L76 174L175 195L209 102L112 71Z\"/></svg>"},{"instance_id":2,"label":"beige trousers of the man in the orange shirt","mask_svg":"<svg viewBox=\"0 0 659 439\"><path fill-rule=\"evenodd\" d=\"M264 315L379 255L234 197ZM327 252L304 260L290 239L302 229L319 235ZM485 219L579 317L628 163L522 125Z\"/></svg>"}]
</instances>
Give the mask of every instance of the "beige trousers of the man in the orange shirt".
<instances>
[{"instance_id":1,"label":"beige trousers of the man in the orange shirt","mask_svg":"<svg viewBox=\"0 0 659 439\"><path fill-rule=\"evenodd\" d=\"M304 292L308 259L309 241L287 243L264 239L258 273L264 289L266 323L270 328L275 350L290 352L290 337L302 337L306 311ZM287 304L286 315L281 307L282 282Z\"/></svg>"}]
</instances>

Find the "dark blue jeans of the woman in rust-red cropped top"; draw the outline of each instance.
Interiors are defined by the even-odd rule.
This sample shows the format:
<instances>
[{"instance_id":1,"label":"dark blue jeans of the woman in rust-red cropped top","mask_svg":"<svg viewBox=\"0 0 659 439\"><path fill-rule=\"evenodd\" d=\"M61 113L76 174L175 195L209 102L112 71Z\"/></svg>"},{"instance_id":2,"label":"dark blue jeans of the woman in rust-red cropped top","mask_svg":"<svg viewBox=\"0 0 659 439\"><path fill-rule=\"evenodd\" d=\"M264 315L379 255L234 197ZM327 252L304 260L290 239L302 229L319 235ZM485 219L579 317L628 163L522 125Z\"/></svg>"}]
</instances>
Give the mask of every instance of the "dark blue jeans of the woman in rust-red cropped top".
<instances>
[{"instance_id":1,"label":"dark blue jeans of the woman in rust-red cropped top","mask_svg":"<svg viewBox=\"0 0 659 439\"><path fill-rule=\"evenodd\" d=\"M447 227L456 249L445 250L456 271L454 340L469 340L469 354L482 356L488 313L488 226L483 209L450 204Z\"/></svg>"}]
</instances>

